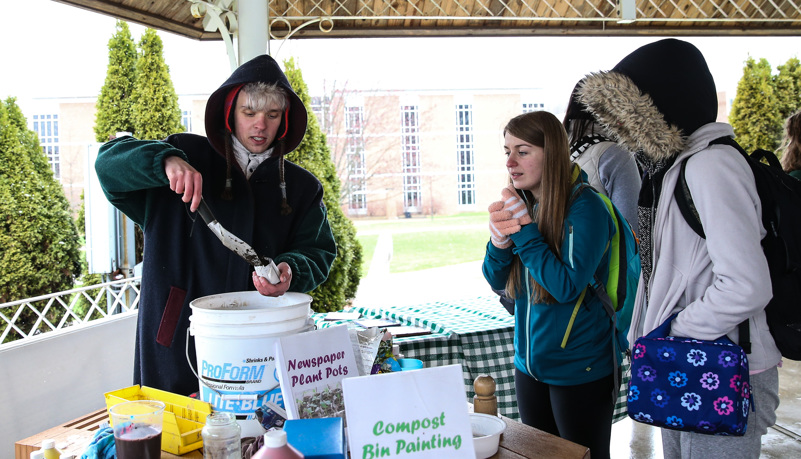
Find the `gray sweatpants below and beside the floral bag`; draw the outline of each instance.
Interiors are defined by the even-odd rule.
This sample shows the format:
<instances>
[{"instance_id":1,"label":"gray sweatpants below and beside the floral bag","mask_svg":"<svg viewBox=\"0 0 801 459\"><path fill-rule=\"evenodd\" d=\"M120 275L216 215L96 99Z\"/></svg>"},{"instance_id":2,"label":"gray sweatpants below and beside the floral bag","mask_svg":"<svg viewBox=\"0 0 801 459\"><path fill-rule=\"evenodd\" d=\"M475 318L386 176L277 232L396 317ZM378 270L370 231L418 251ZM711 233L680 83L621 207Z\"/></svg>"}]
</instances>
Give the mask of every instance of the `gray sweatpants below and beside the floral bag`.
<instances>
[{"instance_id":1,"label":"gray sweatpants below and beside the floral bag","mask_svg":"<svg viewBox=\"0 0 801 459\"><path fill-rule=\"evenodd\" d=\"M665 459L758 459L762 436L776 423L779 407L779 369L751 375L751 393L756 412L748 414L748 428L742 437L704 435L662 430Z\"/></svg>"}]
</instances>

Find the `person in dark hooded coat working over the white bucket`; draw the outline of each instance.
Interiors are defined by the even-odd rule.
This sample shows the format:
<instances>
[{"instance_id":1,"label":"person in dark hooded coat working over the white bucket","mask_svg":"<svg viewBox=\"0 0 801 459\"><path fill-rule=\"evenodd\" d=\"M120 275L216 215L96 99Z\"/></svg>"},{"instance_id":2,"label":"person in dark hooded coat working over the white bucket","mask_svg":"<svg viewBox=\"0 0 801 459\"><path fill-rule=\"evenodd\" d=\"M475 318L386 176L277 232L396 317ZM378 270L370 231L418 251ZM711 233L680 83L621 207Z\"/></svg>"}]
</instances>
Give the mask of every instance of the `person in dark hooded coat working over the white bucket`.
<instances>
[{"instance_id":1,"label":"person in dark hooded coat working over the white bucket","mask_svg":"<svg viewBox=\"0 0 801 459\"><path fill-rule=\"evenodd\" d=\"M199 387L187 362L192 300L308 292L336 257L322 185L284 159L305 135L307 112L278 63L262 55L242 64L209 97L205 122L208 137L119 137L95 163L109 201L145 237L134 383L184 395ZM196 213L201 198L223 228L275 261L277 284L217 239Z\"/></svg>"}]
</instances>

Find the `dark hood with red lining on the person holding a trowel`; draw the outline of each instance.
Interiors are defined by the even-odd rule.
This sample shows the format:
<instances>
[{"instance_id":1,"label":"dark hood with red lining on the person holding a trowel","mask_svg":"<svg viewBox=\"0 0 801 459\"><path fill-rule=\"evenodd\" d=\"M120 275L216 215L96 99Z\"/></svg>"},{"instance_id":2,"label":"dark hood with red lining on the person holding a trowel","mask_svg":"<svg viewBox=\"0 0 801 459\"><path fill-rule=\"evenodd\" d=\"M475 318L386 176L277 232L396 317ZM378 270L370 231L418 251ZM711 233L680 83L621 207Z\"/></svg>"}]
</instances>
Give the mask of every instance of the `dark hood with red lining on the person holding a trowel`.
<instances>
[{"instance_id":1,"label":"dark hood with red lining on the person holding a trowel","mask_svg":"<svg viewBox=\"0 0 801 459\"><path fill-rule=\"evenodd\" d=\"M263 54L234 70L234 73L212 93L206 103L206 136L220 154L225 155L225 136L231 134L226 123L226 115L230 112L230 109L226 110L226 99L230 100L230 105L242 85L257 81L267 84L278 83L286 91L289 102L288 110L284 112L285 116L281 120L281 127L278 128L279 139L277 141L283 139L284 148L276 149L274 154L289 153L297 148L303 140L308 121L306 107L300 97L295 94L278 63L272 57ZM282 134L283 137L281 137Z\"/></svg>"}]
</instances>

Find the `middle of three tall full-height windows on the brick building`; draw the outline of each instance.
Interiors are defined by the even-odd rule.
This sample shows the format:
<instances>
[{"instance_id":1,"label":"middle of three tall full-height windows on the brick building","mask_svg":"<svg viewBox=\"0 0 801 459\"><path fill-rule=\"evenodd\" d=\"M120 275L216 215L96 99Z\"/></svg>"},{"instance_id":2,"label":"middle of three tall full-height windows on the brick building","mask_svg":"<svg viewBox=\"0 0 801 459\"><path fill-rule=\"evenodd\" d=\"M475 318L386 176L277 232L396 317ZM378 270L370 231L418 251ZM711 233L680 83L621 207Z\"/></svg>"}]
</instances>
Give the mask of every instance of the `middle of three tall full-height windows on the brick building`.
<instances>
[{"instance_id":1,"label":"middle of three tall full-height windows on the brick building","mask_svg":"<svg viewBox=\"0 0 801 459\"><path fill-rule=\"evenodd\" d=\"M420 114L417 105L401 107L401 151L403 208L406 212L420 212L423 180L420 175Z\"/></svg>"}]
</instances>

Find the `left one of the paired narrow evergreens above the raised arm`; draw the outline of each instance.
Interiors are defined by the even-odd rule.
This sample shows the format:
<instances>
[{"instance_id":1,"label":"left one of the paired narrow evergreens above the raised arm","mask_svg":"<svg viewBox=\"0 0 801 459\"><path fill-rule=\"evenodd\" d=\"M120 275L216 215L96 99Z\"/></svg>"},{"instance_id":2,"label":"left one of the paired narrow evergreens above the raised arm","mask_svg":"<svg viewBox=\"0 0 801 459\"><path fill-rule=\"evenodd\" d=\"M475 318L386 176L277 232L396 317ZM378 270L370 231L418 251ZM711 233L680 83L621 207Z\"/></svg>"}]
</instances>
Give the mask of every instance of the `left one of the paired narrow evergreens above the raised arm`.
<instances>
[{"instance_id":1,"label":"left one of the paired narrow evergreens above the raised arm","mask_svg":"<svg viewBox=\"0 0 801 459\"><path fill-rule=\"evenodd\" d=\"M136 78L136 44L128 23L117 21L108 41L106 81L95 104L95 140L105 142L117 132L133 132L132 94Z\"/></svg>"}]
</instances>

